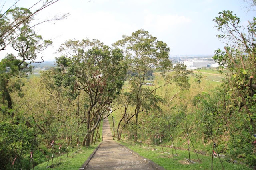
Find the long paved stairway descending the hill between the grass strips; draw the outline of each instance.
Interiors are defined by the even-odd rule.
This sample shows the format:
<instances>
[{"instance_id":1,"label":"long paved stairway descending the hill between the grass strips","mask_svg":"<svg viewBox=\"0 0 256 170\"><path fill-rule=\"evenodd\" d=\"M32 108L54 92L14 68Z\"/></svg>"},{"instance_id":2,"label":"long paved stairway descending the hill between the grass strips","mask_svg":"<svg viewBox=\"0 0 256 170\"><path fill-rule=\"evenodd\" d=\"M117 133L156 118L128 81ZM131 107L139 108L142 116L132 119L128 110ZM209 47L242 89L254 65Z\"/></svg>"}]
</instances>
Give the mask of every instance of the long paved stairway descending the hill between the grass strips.
<instances>
[{"instance_id":1,"label":"long paved stairway descending the hill between the grass strips","mask_svg":"<svg viewBox=\"0 0 256 170\"><path fill-rule=\"evenodd\" d=\"M113 141L112 132L108 119L103 120L103 142L92 156L85 169L130 169L130 170L153 170L154 168L146 161L132 154L125 147Z\"/></svg>"}]
</instances>

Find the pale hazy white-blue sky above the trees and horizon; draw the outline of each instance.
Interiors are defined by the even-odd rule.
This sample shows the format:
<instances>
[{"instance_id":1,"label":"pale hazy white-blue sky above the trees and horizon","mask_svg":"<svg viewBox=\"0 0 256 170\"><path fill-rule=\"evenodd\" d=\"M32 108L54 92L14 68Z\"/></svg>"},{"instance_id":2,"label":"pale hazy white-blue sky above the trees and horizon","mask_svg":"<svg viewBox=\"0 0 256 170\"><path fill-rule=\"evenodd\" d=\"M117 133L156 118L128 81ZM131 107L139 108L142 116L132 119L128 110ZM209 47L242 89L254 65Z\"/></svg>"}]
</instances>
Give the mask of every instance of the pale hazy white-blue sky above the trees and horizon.
<instances>
[{"instance_id":1,"label":"pale hazy white-blue sky above the trees and horizon","mask_svg":"<svg viewBox=\"0 0 256 170\"><path fill-rule=\"evenodd\" d=\"M0 5L5 0L0 0ZM9 7L14 0L7 0ZM36 0L20 0L16 6L29 8ZM44 60L58 57L56 50L68 39L99 39L105 45L144 29L170 47L171 56L214 55L223 48L216 37L214 17L231 10L242 25L256 16L244 0L60 0L35 16L34 22L69 14L64 20L38 25L35 29L44 39L53 39L53 47L43 51ZM35 9L35 8L34 8ZM11 49L0 52L0 58ZM40 56L41 57L41 56Z\"/></svg>"}]
</instances>

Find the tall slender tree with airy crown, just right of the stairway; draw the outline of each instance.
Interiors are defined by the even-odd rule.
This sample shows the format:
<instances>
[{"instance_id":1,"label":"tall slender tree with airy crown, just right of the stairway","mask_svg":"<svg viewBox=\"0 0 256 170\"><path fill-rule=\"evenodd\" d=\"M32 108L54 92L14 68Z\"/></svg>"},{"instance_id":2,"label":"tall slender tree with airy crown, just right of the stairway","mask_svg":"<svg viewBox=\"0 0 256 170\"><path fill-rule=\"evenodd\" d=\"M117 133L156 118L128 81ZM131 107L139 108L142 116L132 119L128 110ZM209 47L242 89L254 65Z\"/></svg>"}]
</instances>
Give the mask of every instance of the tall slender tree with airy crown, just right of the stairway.
<instances>
[{"instance_id":1,"label":"tall slender tree with airy crown, just right of the stairway","mask_svg":"<svg viewBox=\"0 0 256 170\"><path fill-rule=\"evenodd\" d=\"M134 136L135 141L137 141L138 115L145 109L143 108L143 106L146 106L144 105L145 102L149 100L155 90L166 84L173 83L172 80L176 82L175 84L181 86L186 84L185 86L188 87L187 75L190 73L186 70L186 66L178 64L174 68L176 70L174 74L166 75L165 72L171 69L172 63L169 59L170 48L166 43L158 41L156 37L153 37L143 29L133 32L131 36L123 35L123 39L114 43L114 46L119 47L124 52L130 72L136 72L129 80L132 87L131 91L134 93L134 98L129 99L133 99L135 109L126 123L135 116L136 128ZM146 82L148 73L152 70L161 72L165 82L157 88L149 89L143 85Z\"/></svg>"}]
</instances>

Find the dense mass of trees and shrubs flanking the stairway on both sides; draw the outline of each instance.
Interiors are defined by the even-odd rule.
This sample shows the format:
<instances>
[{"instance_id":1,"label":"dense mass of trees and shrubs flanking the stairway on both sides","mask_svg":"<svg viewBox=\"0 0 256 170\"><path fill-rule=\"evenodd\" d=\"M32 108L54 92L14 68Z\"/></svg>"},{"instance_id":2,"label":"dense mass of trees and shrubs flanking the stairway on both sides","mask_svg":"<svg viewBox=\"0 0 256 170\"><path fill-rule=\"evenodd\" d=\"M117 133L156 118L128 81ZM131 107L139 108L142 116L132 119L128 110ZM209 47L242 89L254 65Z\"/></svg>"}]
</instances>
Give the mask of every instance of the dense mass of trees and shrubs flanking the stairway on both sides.
<instances>
[{"instance_id":1,"label":"dense mass of trees and shrubs flanking the stairway on both sides","mask_svg":"<svg viewBox=\"0 0 256 170\"><path fill-rule=\"evenodd\" d=\"M226 74L220 85L184 64L172 68L168 45L143 29L113 47L68 40L56 67L28 78L30 64L52 44L31 29L33 15L14 8L0 17L1 50L10 45L18 52L0 61L2 169L32 168L31 160L89 147L111 114L118 140L179 148L194 141L212 158L216 151L226 161L256 166L256 18L247 30L231 11L214 18L226 44L214 56L218 72Z\"/></svg>"}]
</instances>

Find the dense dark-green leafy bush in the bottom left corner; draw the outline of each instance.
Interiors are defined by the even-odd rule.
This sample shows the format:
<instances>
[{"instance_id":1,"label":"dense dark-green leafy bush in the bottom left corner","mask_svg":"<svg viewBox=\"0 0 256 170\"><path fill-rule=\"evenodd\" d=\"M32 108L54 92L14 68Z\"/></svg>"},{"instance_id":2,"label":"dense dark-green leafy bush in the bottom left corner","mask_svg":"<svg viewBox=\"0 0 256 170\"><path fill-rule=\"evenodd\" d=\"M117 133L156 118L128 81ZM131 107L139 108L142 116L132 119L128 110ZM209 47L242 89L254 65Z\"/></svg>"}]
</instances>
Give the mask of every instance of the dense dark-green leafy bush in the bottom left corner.
<instances>
[{"instance_id":1,"label":"dense dark-green leafy bush in the bottom left corner","mask_svg":"<svg viewBox=\"0 0 256 170\"><path fill-rule=\"evenodd\" d=\"M32 123L32 122L31 122ZM0 166L2 169L26 169L28 160L25 155L37 149L36 129L28 127L22 120L4 117L0 122ZM16 162L12 162L16 158Z\"/></svg>"}]
</instances>

